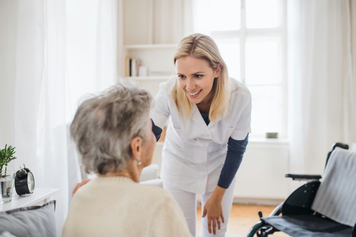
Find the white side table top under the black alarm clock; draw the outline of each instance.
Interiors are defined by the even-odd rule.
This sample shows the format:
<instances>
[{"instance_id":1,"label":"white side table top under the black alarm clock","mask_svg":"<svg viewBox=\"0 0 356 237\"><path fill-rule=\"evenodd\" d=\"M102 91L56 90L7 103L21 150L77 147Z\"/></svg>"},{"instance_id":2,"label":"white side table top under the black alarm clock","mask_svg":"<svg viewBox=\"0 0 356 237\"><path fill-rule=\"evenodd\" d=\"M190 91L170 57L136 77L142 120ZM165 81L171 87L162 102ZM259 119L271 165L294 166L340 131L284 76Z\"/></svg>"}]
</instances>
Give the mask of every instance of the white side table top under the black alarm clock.
<instances>
[{"instance_id":1,"label":"white side table top under the black alarm clock","mask_svg":"<svg viewBox=\"0 0 356 237\"><path fill-rule=\"evenodd\" d=\"M8 211L24 206L41 206L50 201L51 197L58 192L58 188L35 188L31 195L25 197L17 195L14 188L11 203L0 204L0 211Z\"/></svg>"}]
</instances>

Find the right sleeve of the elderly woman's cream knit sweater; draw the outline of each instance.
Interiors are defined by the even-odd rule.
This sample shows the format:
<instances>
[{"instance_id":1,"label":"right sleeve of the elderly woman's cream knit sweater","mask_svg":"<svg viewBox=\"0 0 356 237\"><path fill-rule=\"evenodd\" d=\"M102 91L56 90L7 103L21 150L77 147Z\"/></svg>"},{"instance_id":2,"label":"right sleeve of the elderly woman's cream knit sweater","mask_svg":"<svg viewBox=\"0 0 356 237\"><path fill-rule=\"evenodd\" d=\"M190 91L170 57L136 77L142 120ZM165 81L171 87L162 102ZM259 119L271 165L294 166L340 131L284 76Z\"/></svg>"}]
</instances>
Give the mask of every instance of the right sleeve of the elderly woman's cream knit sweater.
<instances>
[{"instance_id":1,"label":"right sleeve of the elderly woman's cream knit sweater","mask_svg":"<svg viewBox=\"0 0 356 237\"><path fill-rule=\"evenodd\" d=\"M182 236L192 237L187 221L185 220L182 209L173 199L173 196L167 196L158 204L154 218L151 220L150 236ZM164 223L164 224L163 224Z\"/></svg>"}]
</instances>

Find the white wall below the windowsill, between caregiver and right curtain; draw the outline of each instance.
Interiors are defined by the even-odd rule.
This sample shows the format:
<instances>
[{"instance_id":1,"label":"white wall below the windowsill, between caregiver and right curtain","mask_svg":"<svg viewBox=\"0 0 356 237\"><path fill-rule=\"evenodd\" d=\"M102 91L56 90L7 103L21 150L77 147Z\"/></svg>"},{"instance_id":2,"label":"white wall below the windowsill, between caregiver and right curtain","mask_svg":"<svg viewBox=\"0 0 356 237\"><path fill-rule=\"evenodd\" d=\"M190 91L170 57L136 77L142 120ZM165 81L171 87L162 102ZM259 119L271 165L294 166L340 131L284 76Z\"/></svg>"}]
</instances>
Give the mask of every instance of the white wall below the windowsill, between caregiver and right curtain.
<instances>
[{"instance_id":1,"label":"white wall below the windowsill, between caregiver and right curtain","mask_svg":"<svg viewBox=\"0 0 356 237\"><path fill-rule=\"evenodd\" d=\"M289 194L287 141L250 139L236 174L234 196L241 199L279 200Z\"/></svg>"}]
</instances>

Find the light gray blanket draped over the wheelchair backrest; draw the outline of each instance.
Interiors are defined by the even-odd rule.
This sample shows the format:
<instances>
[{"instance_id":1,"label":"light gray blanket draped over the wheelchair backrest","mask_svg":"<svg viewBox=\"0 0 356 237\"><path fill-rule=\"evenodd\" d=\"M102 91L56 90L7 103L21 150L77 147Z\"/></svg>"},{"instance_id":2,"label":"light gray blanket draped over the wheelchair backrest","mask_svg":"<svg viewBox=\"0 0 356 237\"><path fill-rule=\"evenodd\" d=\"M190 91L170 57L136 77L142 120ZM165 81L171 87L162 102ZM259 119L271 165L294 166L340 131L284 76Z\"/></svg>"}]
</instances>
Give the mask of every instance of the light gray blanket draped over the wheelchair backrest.
<instances>
[{"instance_id":1,"label":"light gray blanket draped over the wheelchair backrest","mask_svg":"<svg viewBox=\"0 0 356 237\"><path fill-rule=\"evenodd\" d=\"M355 225L355 151L335 149L331 153L312 210L344 225Z\"/></svg>"}]
</instances>

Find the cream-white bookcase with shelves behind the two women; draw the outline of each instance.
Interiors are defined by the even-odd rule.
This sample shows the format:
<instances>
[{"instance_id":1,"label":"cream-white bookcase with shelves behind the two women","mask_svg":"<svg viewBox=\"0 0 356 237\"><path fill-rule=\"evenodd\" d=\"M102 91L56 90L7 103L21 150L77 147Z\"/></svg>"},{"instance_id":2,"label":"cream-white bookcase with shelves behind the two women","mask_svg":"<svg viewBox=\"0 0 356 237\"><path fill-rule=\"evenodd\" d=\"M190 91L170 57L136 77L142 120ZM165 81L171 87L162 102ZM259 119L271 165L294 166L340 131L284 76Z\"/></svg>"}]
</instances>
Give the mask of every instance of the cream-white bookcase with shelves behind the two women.
<instances>
[{"instance_id":1,"label":"cream-white bookcase with shelves behind the two women","mask_svg":"<svg viewBox=\"0 0 356 237\"><path fill-rule=\"evenodd\" d=\"M175 74L173 53L179 41L184 37L181 17L181 1L175 0L123 0L123 43L124 68L126 57L137 59L140 65L147 67L147 76L126 76L126 80L135 81L156 96L159 84ZM167 9L171 9L167 11ZM169 19L169 20L167 20ZM178 20L177 20L178 19ZM157 142L152 163L161 166L161 154L164 142Z\"/></svg>"}]
</instances>

